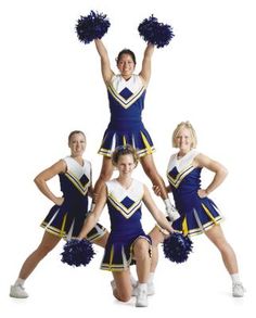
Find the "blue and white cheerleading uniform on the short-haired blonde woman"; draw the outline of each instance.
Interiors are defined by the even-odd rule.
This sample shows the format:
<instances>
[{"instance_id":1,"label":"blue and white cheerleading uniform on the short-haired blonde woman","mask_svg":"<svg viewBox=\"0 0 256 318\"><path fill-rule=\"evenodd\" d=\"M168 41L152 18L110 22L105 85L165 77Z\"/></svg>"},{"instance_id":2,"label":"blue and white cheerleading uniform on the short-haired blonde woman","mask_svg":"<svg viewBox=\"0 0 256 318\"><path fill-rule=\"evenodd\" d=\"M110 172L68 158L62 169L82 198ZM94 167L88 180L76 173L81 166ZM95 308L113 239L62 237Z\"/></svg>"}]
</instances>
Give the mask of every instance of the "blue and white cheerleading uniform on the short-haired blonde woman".
<instances>
[{"instance_id":1,"label":"blue and white cheerleading uniform on the short-haired blonde woman","mask_svg":"<svg viewBox=\"0 0 256 318\"><path fill-rule=\"evenodd\" d=\"M172 227L184 236L200 234L222 219L216 204L208 198L201 199L197 194L201 189L202 168L192 165L197 154L196 150L191 150L180 160L174 154L167 168L175 205L181 216L174 221Z\"/></svg>"}]
</instances>

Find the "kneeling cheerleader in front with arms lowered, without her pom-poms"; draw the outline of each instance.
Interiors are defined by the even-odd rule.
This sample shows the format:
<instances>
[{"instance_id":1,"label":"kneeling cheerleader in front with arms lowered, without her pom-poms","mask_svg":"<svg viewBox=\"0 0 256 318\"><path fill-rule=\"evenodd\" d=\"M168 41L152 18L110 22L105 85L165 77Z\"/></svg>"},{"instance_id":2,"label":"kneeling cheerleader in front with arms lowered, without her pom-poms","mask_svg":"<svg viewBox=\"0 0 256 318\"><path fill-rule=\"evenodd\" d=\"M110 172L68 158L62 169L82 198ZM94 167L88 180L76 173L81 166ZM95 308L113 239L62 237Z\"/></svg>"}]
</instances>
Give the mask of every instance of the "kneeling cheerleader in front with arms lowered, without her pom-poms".
<instances>
[{"instance_id":1,"label":"kneeling cheerleader in front with arms lowered, without her pom-poms","mask_svg":"<svg viewBox=\"0 0 256 318\"><path fill-rule=\"evenodd\" d=\"M164 214L153 202L148 188L132 179L132 170L138 157L132 147L118 147L112 163L118 169L116 179L106 181L92 213L85 221L79 238L86 238L97 224L104 205L107 204L111 219L111 233L105 246L101 269L113 274L113 294L120 302L128 302L132 295L129 266L136 260L138 287L137 307L148 306L148 279L151 266L151 238L141 226L141 203L145 204L161 227L171 232L172 229Z\"/></svg>"}]
</instances>

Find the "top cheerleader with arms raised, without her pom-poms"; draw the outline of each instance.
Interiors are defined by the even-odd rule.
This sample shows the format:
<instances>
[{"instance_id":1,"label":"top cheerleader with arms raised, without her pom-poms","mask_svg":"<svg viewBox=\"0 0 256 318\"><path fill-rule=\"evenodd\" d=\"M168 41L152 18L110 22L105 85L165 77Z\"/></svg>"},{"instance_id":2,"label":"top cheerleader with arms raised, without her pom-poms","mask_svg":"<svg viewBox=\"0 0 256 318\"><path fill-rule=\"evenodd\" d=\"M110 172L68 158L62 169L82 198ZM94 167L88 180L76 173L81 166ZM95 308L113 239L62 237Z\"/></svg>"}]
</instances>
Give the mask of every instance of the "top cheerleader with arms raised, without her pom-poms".
<instances>
[{"instance_id":1,"label":"top cheerleader with arms raised, without her pom-poms","mask_svg":"<svg viewBox=\"0 0 256 318\"><path fill-rule=\"evenodd\" d=\"M159 176L153 160L154 144L150 133L142 123L142 111L146 87L151 77L151 60L154 44L148 43L142 69L139 75L133 74L136 55L132 51L124 49L119 52L116 63L119 74L114 74L111 68L108 54L101 39L94 40L97 51L101 58L101 71L107 88L111 122L103 136L99 153L103 155L100 177L94 187L94 201L104 182L110 180L113 174L111 155L116 147L131 144L137 150L137 155L145 174L154 186L161 189L161 196L165 202L166 212L171 219L179 217L168 199L164 181Z\"/></svg>"}]
</instances>

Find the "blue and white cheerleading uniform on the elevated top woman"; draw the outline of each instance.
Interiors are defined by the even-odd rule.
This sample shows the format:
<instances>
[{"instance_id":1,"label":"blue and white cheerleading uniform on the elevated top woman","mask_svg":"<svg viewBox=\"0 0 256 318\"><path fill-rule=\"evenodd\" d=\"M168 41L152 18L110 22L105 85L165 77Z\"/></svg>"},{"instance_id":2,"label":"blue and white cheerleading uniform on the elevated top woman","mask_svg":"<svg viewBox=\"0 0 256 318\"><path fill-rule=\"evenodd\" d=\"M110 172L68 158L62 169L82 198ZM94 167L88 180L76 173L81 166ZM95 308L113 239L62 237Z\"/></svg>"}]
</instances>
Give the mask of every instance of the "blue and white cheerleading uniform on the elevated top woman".
<instances>
[{"instance_id":1,"label":"blue and white cheerleading uniform on the elevated top woman","mask_svg":"<svg viewBox=\"0 0 256 318\"><path fill-rule=\"evenodd\" d=\"M131 144L139 156L155 151L151 137L144 128L141 113L144 107L145 87L139 75L128 80L114 75L107 86L111 123L105 130L99 153L111 156L116 147Z\"/></svg>"}]
</instances>

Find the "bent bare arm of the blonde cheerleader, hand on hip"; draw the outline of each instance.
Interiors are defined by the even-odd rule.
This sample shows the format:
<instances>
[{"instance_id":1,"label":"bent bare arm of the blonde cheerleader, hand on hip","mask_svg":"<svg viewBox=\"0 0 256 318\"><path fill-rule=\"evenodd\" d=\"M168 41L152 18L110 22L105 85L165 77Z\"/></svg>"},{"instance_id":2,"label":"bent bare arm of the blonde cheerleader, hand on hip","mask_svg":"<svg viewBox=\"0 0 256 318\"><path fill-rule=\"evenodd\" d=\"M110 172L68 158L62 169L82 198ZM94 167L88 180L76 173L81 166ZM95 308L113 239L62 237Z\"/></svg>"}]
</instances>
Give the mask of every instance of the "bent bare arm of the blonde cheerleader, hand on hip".
<instances>
[{"instance_id":1,"label":"bent bare arm of the blonde cheerleader, hand on hip","mask_svg":"<svg viewBox=\"0 0 256 318\"><path fill-rule=\"evenodd\" d=\"M226 169L225 166L222 166L220 163L213 161L208 156L204 154L199 154L194 158L194 163L199 167L205 167L209 169L210 171L215 173L213 181L209 183L209 186L205 190L200 190L199 195L201 198L206 196L210 192L213 192L216 188L218 188L225 180L225 178L228 175L228 170Z\"/></svg>"}]
</instances>

